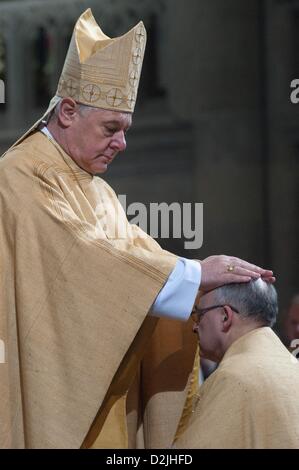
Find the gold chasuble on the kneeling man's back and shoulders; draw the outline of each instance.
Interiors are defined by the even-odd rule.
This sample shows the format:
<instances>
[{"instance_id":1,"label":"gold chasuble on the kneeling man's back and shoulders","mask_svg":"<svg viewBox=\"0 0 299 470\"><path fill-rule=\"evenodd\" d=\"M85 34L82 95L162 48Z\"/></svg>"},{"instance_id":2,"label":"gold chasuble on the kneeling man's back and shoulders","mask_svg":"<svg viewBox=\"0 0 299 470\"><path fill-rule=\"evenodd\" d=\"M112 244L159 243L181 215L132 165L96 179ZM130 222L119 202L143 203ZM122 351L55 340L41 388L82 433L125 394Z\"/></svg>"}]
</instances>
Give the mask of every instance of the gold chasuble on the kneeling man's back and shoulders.
<instances>
[{"instance_id":1,"label":"gold chasuble on the kneeling man's back and shoulders","mask_svg":"<svg viewBox=\"0 0 299 470\"><path fill-rule=\"evenodd\" d=\"M268 327L236 340L199 389L179 449L299 449L299 363Z\"/></svg>"}]
</instances>

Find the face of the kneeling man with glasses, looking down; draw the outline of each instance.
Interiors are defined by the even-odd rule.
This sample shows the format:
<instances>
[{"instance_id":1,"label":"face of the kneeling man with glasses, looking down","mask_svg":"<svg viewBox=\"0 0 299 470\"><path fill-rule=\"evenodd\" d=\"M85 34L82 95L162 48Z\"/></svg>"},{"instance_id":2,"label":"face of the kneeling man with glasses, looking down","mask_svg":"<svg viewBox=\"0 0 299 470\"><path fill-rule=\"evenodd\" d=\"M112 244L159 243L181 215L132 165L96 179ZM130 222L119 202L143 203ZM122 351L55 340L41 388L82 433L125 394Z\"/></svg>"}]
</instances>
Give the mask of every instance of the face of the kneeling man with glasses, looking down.
<instances>
[{"instance_id":1,"label":"face of the kneeling man with glasses, looking down","mask_svg":"<svg viewBox=\"0 0 299 470\"><path fill-rule=\"evenodd\" d=\"M219 362L221 354L221 328L222 328L222 308L215 308L205 312L217 305L213 291L202 296L200 310L204 313L199 318L199 322L193 326L193 331L198 334L200 354L206 359Z\"/></svg>"}]
</instances>

